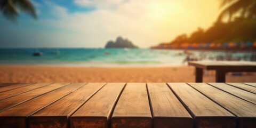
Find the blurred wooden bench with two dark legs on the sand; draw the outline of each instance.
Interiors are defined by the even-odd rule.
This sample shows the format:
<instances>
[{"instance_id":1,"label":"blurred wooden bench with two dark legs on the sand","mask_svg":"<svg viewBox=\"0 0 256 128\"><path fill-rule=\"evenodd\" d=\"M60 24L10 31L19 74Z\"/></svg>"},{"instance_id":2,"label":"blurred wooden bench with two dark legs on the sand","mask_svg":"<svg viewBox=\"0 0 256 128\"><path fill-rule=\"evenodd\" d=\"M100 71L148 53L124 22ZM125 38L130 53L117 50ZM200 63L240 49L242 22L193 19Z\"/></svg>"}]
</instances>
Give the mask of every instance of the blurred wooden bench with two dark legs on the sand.
<instances>
[{"instance_id":1,"label":"blurred wooden bench with two dark legs on the sand","mask_svg":"<svg viewBox=\"0 0 256 128\"><path fill-rule=\"evenodd\" d=\"M226 81L228 72L256 72L256 62L249 61L190 61L189 66L196 67L196 82L203 82L203 69L215 70L217 83Z\"/></svg>"}]
</instances>

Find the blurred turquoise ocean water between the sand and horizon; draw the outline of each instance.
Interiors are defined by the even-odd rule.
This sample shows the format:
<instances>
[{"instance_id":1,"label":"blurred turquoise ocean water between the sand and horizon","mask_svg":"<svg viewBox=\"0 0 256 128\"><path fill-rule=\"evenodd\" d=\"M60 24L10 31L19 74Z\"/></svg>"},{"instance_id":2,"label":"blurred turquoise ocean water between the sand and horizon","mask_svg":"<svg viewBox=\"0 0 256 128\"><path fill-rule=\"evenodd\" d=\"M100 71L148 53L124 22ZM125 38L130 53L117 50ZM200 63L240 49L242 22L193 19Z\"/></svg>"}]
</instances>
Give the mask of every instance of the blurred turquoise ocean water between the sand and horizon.
<instances>
[{"instance_id":1,"label":"blurred turquoise ocean water between the sand and horizon","mask_svg":"<svg viewBox=\"0 0 256 128\"><path fill-rule=\"evenodd\" d=\"M33 53L41 52L35 57ZM189 51L190 58L215 60L218 56L250 60L251 52ZM0 65L56 65L85 67L183 66L183 50L151 49L0 49Z\"/></svg>"}]
</instances>

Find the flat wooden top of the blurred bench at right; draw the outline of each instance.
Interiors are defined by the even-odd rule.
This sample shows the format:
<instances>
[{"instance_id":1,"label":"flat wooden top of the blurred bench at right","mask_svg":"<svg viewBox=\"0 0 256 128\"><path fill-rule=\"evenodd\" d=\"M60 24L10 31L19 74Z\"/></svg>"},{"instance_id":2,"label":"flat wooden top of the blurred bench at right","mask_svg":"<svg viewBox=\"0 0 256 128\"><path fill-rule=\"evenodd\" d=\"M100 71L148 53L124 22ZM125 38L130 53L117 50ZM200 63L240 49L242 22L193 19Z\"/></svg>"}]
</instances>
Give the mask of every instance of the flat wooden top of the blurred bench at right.
<instances>
[{"instance_id":1,"label":"flat wooden top of the blurred bench at right","mask_svg":"<svg viewBox=\"0 0 256 128\"><path fill-rule=\"evenodd\" d=\"M190 61L188 65L203 69L246 68L256 70L256 62L252 61Z\"/></svg>"}]
</instances>

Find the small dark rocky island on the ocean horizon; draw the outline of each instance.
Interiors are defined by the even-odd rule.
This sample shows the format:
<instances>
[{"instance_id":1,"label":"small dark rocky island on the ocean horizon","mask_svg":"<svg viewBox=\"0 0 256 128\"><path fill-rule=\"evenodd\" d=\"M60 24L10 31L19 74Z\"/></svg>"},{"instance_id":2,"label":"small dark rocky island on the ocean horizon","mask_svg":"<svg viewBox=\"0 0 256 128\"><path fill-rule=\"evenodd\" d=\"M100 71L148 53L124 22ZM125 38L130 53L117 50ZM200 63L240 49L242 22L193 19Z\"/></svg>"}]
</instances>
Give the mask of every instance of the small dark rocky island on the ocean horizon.
<instances>
[{"instance_id":1,"label":"small dark rocky island on the ocean horizon","mask_svg":"<svg viewBox=\"0 0 256 128\"><path fill-rule=\"evenodd\" d=\"M109 41L107 42L106 49L108 48L130 48L130 49L138 49L138 46L133 45L131 41L128 39L124 39L122 37L117 37L116 42L114 41Z\"/></svg>"}]
</instances>

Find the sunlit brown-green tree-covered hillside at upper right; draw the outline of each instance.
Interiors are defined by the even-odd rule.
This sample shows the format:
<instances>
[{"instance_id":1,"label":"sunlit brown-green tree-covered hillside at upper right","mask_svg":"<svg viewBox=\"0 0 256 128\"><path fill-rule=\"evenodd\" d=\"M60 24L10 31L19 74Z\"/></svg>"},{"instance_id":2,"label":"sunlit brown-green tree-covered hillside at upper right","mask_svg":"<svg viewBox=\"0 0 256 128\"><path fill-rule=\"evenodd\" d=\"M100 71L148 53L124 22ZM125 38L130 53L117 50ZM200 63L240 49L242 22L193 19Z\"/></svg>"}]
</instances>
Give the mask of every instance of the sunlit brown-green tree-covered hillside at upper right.
<instances>
[{"instance_id":1,"label":"sunlit brown-green tree-covered hillside at upper right","mask_svg":"<svg viewBox=\"0 0 256 128\"><path fill-rule=\"evenodd\" d=\"M221 7L226 6L212 27L198 28L189 37L175 38L171 43L224 43L256 41L256 0L222 0ZM239 14L238 17L234 17ZM228 22L221 20L229 16ZM185 34L182 34L185 35Z\"/></svg>"}]
</instances>

